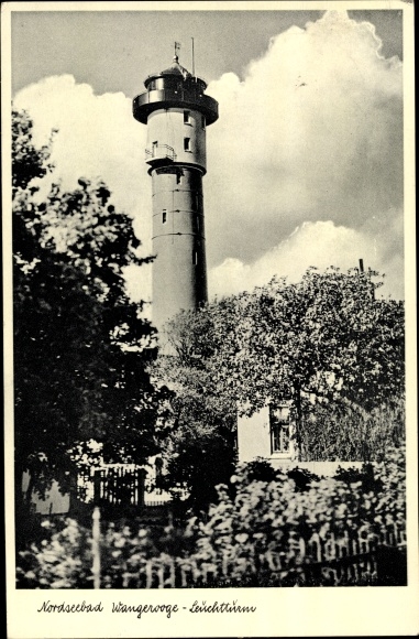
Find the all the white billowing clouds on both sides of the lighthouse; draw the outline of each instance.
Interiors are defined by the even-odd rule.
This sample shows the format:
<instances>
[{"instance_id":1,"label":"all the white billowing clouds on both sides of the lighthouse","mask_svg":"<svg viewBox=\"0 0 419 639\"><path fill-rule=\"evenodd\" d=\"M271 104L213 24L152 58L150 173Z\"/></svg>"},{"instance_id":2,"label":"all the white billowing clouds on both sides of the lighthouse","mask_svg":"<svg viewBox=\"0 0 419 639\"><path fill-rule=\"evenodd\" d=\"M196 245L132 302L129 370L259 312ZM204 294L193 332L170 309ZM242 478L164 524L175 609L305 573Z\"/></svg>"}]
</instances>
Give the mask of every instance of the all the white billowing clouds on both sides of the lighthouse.
<instances>
[{"instance_id":1,"label":"all the white billowing clouds on both sides of the lighthouse","mask_svg":"<svg viewBox=\"0 0 419 639\"><path fill-rule=\"evenodd\" d=\"M252 288L309 266L365 266L403 296L403 66L381 55L368 23L328 12L274 36L241 80L227 73L208 93L220 119L208 128L203 180L212 295ZM123 94L97 96L70 75L15 96L67 188L100 176L151 252L145 127ZM150 268L129 277L150 299Z\"/></svg>"}]
</instances>

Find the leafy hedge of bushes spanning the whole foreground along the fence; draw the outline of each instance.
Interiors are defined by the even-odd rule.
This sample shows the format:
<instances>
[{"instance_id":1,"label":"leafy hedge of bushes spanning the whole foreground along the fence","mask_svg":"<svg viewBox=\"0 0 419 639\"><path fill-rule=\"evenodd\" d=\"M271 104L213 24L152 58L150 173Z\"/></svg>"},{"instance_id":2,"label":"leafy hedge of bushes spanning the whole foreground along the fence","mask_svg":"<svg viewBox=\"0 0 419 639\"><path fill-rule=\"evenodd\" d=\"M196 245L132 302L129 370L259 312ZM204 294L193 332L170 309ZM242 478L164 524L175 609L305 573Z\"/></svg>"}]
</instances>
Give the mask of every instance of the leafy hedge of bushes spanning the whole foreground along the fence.
<instances>
[{"instance_id":1,"label":"leafy hedge of bushes spanning the whole foreground along the fence","mask_svg":"<svg viewBox=\"0 0 419 639\"><path fill-rule=\"evenodd\" d=\"M192 518L185 528L169 524L154 539L140 522L111 523L101 539L102 587L163 587L167 580L174 587L176 571L188 572L188 587L335 585L332 570L308 570L312 543L324 553L335 539L368 542L405 528L400 450L374 466L339 469L329 478L300 468L275 472L261 461L241 464L230 485L217 491L206 519ZM60 528L46 523L45 532L40 545L19 553L18 587L91 587L89 531L67 519ZM382 581L388 585L388 578ZM376 580L364 574L344 585Z\"/></svg>"}]
</instances>

